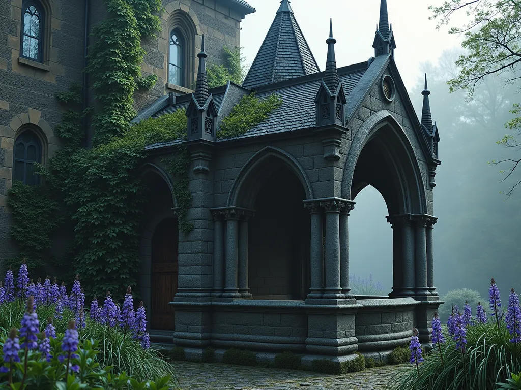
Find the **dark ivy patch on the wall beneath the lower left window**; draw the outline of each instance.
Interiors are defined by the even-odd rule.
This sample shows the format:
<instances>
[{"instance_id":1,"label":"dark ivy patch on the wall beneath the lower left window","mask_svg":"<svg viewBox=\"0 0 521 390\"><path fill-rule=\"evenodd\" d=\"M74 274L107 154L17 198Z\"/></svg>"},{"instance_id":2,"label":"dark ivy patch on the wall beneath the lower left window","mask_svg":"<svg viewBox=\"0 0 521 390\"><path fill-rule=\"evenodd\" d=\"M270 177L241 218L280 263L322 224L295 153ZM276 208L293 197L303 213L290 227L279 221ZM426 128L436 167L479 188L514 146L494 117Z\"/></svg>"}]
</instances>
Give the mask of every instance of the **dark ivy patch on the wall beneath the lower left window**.
<instances>
[{"instance_id":1,"label":"dark ivy patch on the wall beneath the lower left window","mask_svg":"<svg viewBox=\"0 0 521 390\"><path fill-rule=\"evenodd\" d=\"M27 258L28 267L42 267L42 252L51 248L51 232L62 222L56 194L48 187L14 181L7 205L13 209L10 236L20 256Z\"/></svg>"}]
</instances>

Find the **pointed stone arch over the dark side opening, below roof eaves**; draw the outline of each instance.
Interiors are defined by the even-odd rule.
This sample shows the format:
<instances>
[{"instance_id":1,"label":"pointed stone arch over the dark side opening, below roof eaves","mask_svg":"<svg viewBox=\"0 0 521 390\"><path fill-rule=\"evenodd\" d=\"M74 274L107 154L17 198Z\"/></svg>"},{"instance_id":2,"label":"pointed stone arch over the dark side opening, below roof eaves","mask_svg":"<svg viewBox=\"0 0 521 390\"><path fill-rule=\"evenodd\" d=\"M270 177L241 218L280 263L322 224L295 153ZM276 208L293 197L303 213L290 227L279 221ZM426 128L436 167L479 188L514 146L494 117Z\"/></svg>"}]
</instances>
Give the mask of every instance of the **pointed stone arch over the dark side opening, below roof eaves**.
<instances>
[{"instance_id":1,"label":"pointed stone arch over the dark side opening, below roof eaves","mask_svg":"<svg viewBox=\"0 0 521 390\"><path fill-rule=\"evenodd\" d=\"M299 161L282 149L268 146L258 151L242 167L231 187L227 205L252 209L255 196L264 181L280 167L286 168L299 179L306 199L313 199L311 181Z\"/></svg>"}]
</instances>

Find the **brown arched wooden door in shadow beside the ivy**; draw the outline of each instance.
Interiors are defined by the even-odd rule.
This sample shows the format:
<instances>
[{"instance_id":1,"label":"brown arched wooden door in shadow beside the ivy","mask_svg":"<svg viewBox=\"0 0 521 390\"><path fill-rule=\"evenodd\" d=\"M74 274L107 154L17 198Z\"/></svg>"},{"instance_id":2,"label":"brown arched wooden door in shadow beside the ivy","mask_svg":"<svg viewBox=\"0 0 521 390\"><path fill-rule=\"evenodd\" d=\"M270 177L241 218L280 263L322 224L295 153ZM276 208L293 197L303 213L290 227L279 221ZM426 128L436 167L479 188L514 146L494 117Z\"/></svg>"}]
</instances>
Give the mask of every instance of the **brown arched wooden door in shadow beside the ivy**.
<instances>
[{"instance_id":1,"label":"brown arched wooden door in shadow beside the ivy","mask_svg":"<svg viewBox=\"0 0 521 390\"><path fill-rule=\"evenodd\" d=\"M175 330L175 311L168 303L177 293L178 248L177 219L165 219L152 237L152 329Z\"/></svg>"}]
</instances>

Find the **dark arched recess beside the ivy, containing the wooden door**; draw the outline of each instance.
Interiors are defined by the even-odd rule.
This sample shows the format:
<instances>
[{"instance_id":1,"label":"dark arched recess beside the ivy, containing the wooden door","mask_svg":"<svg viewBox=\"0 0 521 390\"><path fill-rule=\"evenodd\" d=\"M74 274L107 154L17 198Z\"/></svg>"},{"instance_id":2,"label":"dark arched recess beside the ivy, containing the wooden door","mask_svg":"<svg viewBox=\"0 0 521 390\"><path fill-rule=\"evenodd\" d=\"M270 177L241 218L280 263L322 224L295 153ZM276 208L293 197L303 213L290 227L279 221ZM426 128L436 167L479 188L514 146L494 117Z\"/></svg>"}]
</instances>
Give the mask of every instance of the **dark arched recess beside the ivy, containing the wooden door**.
<instances>
[{"instance_id":1,"label":"dark arched recess beside the ivy, containing the wooden door","mask_svg":"<svg viewBox=\"0 0 521 390\"><path fill-rule=\"evenodd\" d=\"M166 176L147 165L143 172L146 199L141 232L140 293L153 330L174 330L169 302L177 293L179 229Z\"/></svg>"}]
</instances>

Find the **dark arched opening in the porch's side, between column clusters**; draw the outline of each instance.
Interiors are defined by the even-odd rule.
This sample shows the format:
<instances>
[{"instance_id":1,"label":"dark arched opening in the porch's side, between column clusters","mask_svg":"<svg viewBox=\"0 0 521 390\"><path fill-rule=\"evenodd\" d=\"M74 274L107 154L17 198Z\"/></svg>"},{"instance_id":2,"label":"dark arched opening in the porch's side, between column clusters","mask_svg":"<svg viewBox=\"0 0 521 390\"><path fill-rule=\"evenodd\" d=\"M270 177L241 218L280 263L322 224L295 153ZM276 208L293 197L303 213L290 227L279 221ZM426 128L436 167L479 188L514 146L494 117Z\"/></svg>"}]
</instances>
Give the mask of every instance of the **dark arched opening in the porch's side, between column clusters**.
<instances>
[{"instance_id":1,"label":"dark arched opening in the porch's side, between column clusters","mask_svg":"<svg viewBox=\"0 0 521 390\"><path fill-rule=\"evenodd\" d=\"M300 179L286 167L259 188L249 227L249 285L254 299L304 300L309 290L309 212Z\"/></svg>"}]
</instances>

